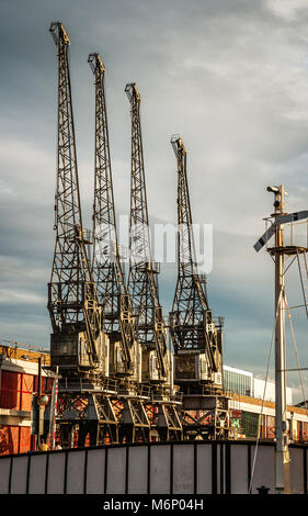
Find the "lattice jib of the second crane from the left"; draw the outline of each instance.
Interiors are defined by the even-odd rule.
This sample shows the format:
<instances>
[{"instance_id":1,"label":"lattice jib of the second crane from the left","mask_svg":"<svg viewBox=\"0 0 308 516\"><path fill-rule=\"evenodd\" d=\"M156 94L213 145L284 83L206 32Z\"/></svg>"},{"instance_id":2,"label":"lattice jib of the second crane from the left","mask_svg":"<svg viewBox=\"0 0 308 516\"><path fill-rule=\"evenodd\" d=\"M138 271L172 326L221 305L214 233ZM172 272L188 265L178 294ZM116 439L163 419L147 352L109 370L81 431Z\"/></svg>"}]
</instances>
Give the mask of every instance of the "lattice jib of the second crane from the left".
<instances>
[{"instance_id":1,"label":"lattice jib of the second crane from the left","mask_svg":"<svg viewBox=\"0 0 308 516\"><path fill-rule=\"evenodd\" d=\"M133 307L121 266L116 234L113 181L105 99L105 67L99 54L88 61L95 85L95 175L93 203L93 274L111 341L121 340L122 367L132 373L135 344ZM121 368L119 368L121 369Z\"/></svg>"}]
</instances>

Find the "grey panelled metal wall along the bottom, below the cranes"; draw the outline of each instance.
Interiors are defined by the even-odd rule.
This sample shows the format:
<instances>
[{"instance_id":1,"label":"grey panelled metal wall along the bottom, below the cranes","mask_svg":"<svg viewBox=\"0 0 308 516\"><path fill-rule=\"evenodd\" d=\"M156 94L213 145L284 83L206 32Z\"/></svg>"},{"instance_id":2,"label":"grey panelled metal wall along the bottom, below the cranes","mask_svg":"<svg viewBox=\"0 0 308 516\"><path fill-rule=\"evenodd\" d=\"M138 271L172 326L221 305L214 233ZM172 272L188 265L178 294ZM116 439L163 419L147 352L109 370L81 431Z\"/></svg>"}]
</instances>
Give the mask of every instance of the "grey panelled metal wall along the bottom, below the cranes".
<instances>
[{"instance_id":1,"label":"grey panelled metal wall along the bottom, below the cranes","mask_svg":"<svg viewBox=\"0 0 308 516\"><path fill-rule=\"evenodd\" d=\"M246 494L253 442L109 446L0 457L0 493ZM307 494L307 446L290 447L293 493ZM274 446L259 445L252 493L274 492Z\"/></svg>"}]
</instances>

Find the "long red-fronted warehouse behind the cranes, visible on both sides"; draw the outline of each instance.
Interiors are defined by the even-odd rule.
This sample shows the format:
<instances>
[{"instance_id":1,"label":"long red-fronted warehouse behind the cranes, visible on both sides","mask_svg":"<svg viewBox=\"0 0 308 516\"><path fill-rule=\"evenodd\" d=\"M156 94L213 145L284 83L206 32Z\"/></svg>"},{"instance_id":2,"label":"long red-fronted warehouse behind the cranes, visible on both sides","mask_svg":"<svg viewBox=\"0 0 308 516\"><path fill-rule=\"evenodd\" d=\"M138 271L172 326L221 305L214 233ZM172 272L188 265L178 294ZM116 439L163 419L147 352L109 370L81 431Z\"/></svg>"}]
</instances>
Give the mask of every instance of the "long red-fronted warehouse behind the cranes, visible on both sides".
<instances>
[{"instance_id":1,"label":"long red-fronted warehouse behind the cranes, visible on both sides","mask_svg":"<svg viewBox=\"0 0 308 516\"><path fill-rule=\"evenodd\" d=\"M44 367L49 364L49 352L22 344L0 345L0 455L36 449L32 404L38 392L38 358L43 366L42 392L47 392L50 400L54 375ZM265 382L252 372L224 366L224 383L229 396L230 439L255 439L259 433L263 441L273 441L274 383L267 383L263 403ZM287 388L289 438L293 442L308 442L307 412L305 407L292 405L292 389ZM196 415L201 416L202 412L196 411ZM88 439L85 446L89 445ZM70 446L78 447L78 440Z\"/></svg>"}]
</instances>

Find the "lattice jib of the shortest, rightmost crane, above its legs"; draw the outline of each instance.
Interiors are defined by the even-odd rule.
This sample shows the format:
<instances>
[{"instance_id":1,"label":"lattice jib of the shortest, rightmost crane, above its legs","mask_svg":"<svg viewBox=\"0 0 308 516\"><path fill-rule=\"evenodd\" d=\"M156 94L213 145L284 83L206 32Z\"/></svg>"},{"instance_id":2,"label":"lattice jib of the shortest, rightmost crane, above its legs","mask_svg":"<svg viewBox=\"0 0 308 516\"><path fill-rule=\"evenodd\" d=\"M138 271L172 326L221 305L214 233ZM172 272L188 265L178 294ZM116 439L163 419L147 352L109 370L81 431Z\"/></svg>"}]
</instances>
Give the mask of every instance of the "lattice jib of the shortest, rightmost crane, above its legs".
<instances>
[{"instance_id":1,"label":"lattice jib of the shortest, rightmost crane, above its legs","mask_svg":"<svg viewBox=\"0 0 308 516\"><path fill-rule=\"evenodd\" d=\"M192 354L192 357L194 352L205 354L208 374L205 373L204 378L213 378L215 373L221 374L221 327L214 322L208 306L205 278L197 270L186 173L186 149L179 135L172 136L171 144L178 165L179 231L178 282L170 314L170 330L174 351L178 356L182 355L183 363L185 352ZM182 368L185 366L182 364Z\"/></svg>"}]
</instances>

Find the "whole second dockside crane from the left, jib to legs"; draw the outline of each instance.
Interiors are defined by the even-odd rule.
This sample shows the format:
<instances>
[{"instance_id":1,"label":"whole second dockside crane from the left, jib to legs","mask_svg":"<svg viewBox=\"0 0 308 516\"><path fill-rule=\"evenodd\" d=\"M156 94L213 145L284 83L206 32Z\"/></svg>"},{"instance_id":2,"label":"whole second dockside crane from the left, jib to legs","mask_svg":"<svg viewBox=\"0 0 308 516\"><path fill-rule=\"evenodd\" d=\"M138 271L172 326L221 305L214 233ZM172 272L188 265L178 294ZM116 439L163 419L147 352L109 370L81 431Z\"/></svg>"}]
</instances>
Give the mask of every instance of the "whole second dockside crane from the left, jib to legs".
<instances>
[{"instance_id":1,"label":"whole second dockside crane from the left, jib to legs","mask_svg":"<svg viewBox=\"0 0 308 516\"><path fill-rule=\"evenodd\" d=\"M95 86L95 173L93 203L93 276L110 338L110 373L118 379L113 399L119 423L119 440L148 439L149 420L140 385L140 346L135 338L135 318L125 283L117 243L114 192L105 98L105 66L99 54L88 61Z\"/></svg>"}]
</instances>

